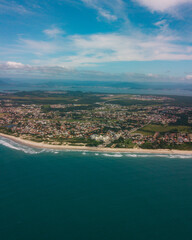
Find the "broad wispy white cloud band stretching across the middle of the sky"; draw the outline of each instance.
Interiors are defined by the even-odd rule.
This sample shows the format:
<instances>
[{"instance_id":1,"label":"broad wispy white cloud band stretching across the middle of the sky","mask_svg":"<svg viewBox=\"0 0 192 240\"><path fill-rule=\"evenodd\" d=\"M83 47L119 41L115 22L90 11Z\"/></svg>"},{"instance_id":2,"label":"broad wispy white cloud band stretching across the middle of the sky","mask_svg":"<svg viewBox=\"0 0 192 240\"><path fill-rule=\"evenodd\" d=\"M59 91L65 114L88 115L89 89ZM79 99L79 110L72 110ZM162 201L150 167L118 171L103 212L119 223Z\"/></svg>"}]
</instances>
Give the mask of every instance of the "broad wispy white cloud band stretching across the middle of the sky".
<instances>
[{"instance_id":1,"label":"broad wispy white cloud band stretching across the middle of the sky","mask_svg":"<svg viewBox=\"0 0 192 240\"><path fill-rule=\"evenodd\" d=\"M163 24L165 22L157 23L158 26ZM107 62L192 60L190 41L184 43L171 34L169 31L161 31L158 35L133 31L129 34L68 35L47 41L21 38L19 44L4 49L0 47L0 52L1 56L17 54L17 59L22 59L22 55L24 58L27 56L33 64L67 68Z\"/></svg>"}]
</instances>

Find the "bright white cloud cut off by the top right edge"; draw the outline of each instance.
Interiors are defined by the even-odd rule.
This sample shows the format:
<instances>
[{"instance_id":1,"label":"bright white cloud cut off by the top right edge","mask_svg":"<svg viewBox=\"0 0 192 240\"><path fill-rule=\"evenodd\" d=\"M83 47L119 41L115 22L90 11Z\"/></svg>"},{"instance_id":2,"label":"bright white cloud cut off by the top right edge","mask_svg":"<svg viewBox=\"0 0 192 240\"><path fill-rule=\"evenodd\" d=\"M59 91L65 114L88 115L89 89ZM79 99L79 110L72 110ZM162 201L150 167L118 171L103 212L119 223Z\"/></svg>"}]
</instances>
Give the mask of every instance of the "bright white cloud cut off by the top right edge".
<instances>
[{"instance_id":1,"label":"bright white cloud cut off by the top right edge","mask_svg":"<svg viewBox=\"0 0 192 240\"><path fill-rule=\"evenodd\" d=\"M140 5L149 8L152 12L166 12L186 3L192 3L192 0L132 0Z\"/></svg>"}]
</instances>

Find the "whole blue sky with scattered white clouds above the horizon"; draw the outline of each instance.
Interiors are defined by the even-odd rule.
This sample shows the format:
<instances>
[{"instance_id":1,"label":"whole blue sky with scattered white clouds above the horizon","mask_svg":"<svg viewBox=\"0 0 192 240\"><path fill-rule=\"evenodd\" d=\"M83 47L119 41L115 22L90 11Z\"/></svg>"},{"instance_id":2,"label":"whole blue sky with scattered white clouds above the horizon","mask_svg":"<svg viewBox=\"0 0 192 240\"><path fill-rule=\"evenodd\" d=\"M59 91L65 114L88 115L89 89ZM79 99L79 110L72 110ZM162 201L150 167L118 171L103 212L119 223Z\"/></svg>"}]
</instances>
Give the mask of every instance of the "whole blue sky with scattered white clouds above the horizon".
<instances>
[{"instance_id":1,"label":"whole blue sky with scattered white clouds above the horizon","mask_svg":"<svg viewBox=\"0 0 192 240\"><path fill-rule=\"evenodd\" d=\"M0 78L192 83L192 0L0 0Z\"/></svg>"}]
</instances>

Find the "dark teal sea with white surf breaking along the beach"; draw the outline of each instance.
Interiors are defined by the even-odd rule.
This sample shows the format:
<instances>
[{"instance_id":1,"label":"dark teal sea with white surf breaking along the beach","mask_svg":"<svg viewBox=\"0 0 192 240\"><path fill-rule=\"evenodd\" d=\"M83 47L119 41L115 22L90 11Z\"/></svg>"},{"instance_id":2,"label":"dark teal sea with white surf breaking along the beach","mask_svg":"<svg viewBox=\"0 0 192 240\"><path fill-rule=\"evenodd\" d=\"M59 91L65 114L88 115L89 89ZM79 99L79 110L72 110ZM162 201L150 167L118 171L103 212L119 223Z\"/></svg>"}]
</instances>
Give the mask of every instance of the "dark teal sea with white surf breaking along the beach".
<instances>
[{"instance_id":1,"label":"dark teal sea with white surf breaking along the beach","mask_svg":"<svg viewBox=\"0 0 192 240\"><path fill-rule=\"evenodd\" d=\"M0 138L1 240L191 240L192 156L35 150Z\"/></svg>"}]
</instances>

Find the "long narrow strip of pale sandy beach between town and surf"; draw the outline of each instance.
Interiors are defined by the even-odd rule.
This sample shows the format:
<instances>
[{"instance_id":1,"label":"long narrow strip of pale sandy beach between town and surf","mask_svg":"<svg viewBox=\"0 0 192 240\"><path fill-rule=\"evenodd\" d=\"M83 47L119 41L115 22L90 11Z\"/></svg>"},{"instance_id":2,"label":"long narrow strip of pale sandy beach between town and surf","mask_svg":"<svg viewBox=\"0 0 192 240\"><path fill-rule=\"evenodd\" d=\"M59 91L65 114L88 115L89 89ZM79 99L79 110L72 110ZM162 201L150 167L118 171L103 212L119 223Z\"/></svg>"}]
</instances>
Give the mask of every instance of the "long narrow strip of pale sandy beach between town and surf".
<instances>
[{"instance_id":1,"label":"long narrow strip of pale sandy beach between town and surf","mask_svg":"<svg viewBox=\"0 0 192 240\"><path fill-rule=\"evenodd\" d=\"M192 155L190 150L170 150L170 149L140 149L140 148L99 148L99 147L86 147L86 146L70 146L70 145L51 145L45 143L33 142L19 137L0 133L1 137L8 138L19 144L23 144L32 148L39 149L54 149L54 150L81 150L91 152L111 152L111 153L151 153L151 154L180 154Z\"/></svg>"}]
</instances>

